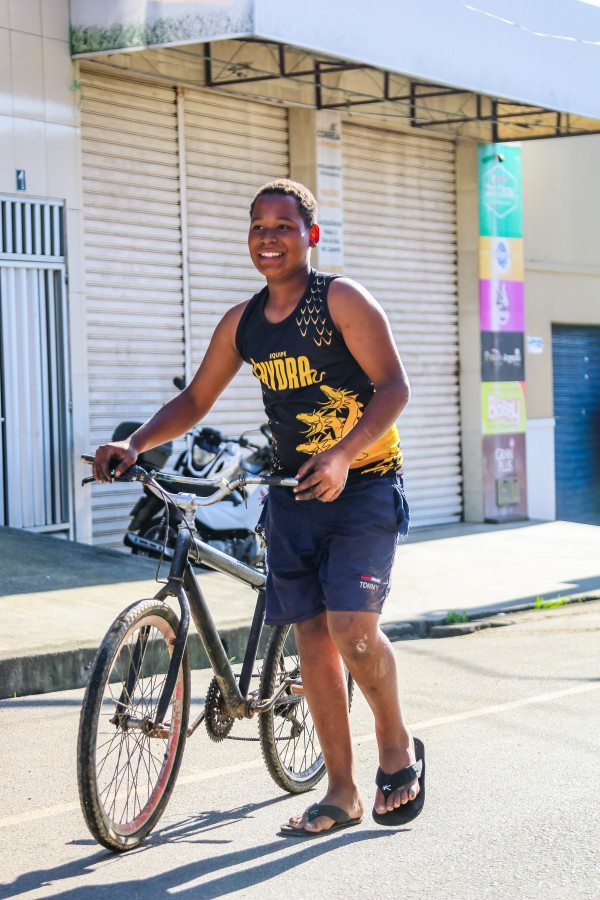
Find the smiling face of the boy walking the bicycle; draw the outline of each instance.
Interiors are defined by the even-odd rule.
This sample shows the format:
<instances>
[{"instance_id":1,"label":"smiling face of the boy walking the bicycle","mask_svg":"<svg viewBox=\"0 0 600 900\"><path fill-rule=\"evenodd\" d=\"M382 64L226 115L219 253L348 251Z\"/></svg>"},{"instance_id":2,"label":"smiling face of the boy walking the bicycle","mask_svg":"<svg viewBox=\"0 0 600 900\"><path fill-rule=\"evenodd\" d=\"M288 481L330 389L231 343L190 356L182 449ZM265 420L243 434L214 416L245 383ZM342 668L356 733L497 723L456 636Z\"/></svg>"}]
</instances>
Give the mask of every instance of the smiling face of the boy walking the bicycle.
<instances>
[{"instance_id":1,"label":"smiling face of the boy walking the bicycle","mask_svg":"<svg viewBox=\"0 0 600 900\"><path fill-rule=\"evenodd\" d=\"M319 240L319 226L306 225L295 197L263 194L250 219L248 248L267 280L293 278L310 268L310 249Z\"/></svg>"}]
</instances>

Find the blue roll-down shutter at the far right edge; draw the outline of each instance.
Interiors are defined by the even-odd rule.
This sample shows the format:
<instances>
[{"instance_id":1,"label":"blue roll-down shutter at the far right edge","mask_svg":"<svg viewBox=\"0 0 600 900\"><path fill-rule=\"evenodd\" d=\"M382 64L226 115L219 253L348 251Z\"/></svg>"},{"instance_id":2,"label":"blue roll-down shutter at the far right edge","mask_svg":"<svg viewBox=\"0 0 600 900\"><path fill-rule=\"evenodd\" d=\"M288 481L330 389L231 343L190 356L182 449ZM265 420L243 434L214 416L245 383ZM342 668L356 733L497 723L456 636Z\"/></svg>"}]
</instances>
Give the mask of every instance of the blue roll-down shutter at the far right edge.
<instances>
[{"instance_id":1,"label":"blue roll-down shutter at the far right edge","mask_svg":"<svg viewBox=\"0 0 600 900\"><path fill-rule=\"evenodd\" d=\"M556 518L600 525L600 326L553 325Z\"/></svg>"}]
</instances>

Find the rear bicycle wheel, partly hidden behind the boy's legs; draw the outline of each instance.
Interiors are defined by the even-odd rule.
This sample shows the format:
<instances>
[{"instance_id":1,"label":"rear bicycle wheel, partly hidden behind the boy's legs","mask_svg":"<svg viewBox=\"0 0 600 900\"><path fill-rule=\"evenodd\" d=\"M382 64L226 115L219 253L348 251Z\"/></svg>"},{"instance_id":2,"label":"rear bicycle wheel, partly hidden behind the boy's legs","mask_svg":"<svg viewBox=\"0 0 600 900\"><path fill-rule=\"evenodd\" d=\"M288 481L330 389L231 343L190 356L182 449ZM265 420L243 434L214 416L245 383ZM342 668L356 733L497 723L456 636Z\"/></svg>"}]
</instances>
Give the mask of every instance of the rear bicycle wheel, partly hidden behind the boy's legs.
<instances>
[{"instance_id":1,"label":"rear bicycle wheel, partly hidden behind the boy's legs","mask_svg":"<svg viewBox=\"0 0 600 900\"><path fill-rule=\"evenodd\" d=\"M293 626L279 625L273 628L265 653L261 698L272 697L286 676L293 677L296 684L301 685ZM350 673L347 678L350 709L354 682ZM269 774L285 791L303 794L312 790L325 775L323 754L303 694L293 694L288 688L272 709L260 714L258 733Z\"/></svg>"}]
</instances>

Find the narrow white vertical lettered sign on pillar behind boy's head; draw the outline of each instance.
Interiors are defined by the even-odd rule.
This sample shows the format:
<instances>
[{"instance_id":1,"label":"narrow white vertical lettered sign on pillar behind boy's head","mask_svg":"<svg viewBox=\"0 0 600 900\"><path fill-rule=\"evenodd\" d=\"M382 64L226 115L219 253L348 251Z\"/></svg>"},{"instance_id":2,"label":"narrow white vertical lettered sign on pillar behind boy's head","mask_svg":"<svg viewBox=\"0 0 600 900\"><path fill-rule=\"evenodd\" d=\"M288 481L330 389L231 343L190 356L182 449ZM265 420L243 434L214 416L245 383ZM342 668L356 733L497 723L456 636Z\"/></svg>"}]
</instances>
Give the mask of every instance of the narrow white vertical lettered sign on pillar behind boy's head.
<instances>
[{"instance_id":1,"label":"narrow white vertical lettered sign on pillar behind boy's head","mask_svg":"<svg viewBox=\"0 0 600 900\"><path fill-rule=\"evenodd\" d=\"M342 180L342 117L319 110L316 120L317 200L319 202L319 268L341 271L344 266Z\"/></svg>"}]
</instances>

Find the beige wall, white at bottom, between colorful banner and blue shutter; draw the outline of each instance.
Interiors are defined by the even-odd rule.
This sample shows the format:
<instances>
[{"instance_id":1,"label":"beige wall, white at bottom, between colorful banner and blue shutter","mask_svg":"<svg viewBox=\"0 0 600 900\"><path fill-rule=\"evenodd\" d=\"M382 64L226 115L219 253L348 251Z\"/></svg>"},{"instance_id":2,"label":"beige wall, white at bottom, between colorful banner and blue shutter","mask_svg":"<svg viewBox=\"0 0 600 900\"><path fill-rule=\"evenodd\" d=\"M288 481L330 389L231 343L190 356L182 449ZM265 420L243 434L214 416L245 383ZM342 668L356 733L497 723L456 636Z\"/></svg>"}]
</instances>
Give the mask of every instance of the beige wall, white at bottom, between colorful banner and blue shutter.
<instances>
[{"instance_id":1,"label":"beige wall, white at bottom, between colorful banner and blue shutter","mask_svg":"<svg viewBox=\"0 0 600 900\"><path fill-rule=\"evenodd\" d=\"M600 50L600 48L598 48ZM556 515L552 323L600 325L600 136L523 144L527 490L532 518Z\"/></svg>"}]
</instances>

